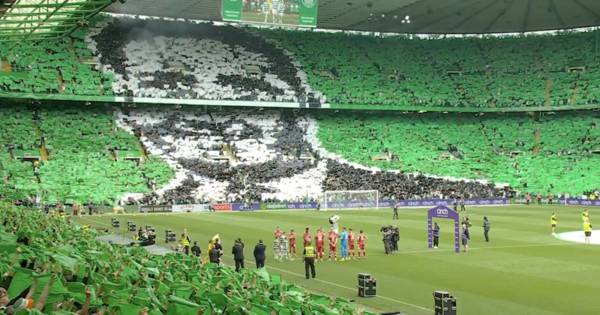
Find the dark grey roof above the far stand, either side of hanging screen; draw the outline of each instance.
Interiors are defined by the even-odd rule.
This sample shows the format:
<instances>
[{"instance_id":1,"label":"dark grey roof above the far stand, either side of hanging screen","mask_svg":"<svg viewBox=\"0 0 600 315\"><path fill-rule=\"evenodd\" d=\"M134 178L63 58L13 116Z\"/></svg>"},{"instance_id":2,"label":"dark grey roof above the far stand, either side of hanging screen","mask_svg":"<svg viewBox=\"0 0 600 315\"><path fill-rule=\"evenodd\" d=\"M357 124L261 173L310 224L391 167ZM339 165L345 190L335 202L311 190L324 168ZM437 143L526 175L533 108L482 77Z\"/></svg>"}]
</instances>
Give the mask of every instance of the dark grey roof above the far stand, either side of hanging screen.
<instances>
[{"instance_id":1,"label":"dark grey roof above the far stand, either side of hanging screen","mask_svg":"<svg viewBox=\"0 0 600 315\"><path fill-rule=\"evenodd\" d=\"M221 0L128 0L108 11L220 21ZM320 28L394 33L507 33L597 25L598 0L319 0L318 15Z\"/></svg>"}]
</instances>

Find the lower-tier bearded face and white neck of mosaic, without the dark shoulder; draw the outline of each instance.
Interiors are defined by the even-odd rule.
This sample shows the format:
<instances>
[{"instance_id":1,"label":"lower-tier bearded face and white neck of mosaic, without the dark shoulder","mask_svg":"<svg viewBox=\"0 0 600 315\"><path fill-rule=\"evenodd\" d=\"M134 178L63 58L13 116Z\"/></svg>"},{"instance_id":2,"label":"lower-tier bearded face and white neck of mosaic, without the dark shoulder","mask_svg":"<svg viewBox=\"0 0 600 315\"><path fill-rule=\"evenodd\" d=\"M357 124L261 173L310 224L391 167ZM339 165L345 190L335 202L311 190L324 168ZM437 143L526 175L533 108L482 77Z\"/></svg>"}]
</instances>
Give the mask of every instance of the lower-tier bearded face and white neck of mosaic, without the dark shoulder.
<instances>
[{"instance_id":1,"label":"lower-tier bearded face and white neck of mosaic, without the dark shoulder","mask_svg":"<svg viewBox=\"0 0 600 315\"><path fill-rule=\"evenodd\" d=\"M305 122L292 114L138 109L118 117L176 169L174 182L157 191L166 202L292 201L321 193L322 167L305 140Z\"/></svg>"}]
</instances>

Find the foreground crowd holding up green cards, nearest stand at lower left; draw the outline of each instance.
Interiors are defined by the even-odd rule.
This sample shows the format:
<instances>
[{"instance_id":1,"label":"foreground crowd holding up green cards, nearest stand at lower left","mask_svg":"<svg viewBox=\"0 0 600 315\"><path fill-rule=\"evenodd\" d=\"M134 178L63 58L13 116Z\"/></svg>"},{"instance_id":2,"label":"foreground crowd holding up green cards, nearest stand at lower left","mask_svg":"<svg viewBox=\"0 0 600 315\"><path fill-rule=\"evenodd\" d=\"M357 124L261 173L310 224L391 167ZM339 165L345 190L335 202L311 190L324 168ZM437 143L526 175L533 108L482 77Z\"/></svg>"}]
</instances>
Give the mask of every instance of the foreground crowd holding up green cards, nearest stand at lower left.
<instances>
[{"instance_id":1,"label":"foreground crowd holding up green cards, nearest stand at lower left","mask_svg":"<svg viewBox=\"0 0 600 315\"><path fill-rule=\"evenodd\" d=\"M264 269L236 273L193 256L101 243L95 230L58 215L2 203L0 221L0 283L11 311L29 292L27 314L372 314Z\"/></svg>"}]
</instances>

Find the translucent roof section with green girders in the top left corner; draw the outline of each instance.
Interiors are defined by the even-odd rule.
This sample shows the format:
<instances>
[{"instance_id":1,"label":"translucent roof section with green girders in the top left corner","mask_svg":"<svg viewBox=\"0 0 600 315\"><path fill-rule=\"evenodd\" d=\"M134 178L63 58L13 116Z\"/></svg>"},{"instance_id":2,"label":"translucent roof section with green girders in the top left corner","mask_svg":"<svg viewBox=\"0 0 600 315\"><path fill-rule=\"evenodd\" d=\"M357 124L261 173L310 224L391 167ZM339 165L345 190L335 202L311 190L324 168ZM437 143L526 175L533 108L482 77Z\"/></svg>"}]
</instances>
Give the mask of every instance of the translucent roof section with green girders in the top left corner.
<instances>
[{"instance_id":1,"label":"translucent roof section with green girders in the top left corner","mask_svg":"<svg viewBox=\"0 0 600 315\"><path fill-rule=\"evenodd\" d=\"M60 37L112 0L0 0L0 42Z\"/></svg>"}]
</instances>

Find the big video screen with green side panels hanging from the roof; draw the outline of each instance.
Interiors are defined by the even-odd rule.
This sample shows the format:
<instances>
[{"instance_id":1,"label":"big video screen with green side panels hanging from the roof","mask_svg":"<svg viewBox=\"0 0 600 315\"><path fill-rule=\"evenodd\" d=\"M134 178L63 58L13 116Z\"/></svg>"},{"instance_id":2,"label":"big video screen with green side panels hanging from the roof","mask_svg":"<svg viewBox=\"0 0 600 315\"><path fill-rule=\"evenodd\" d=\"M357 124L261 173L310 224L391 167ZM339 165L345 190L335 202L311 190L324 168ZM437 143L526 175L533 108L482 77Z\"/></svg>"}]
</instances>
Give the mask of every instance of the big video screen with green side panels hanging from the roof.
<instances>
[{"instance_id":1,"label":"big video screen with green side panels hanging from the roof","mask_svg":"<svg viewBox=\"0 0 600 315\"><path fill-rule=\"evenodd\" d=\"M318 0L223 0L223 21L317 27Z\"/></svg>"}]
</instances>

